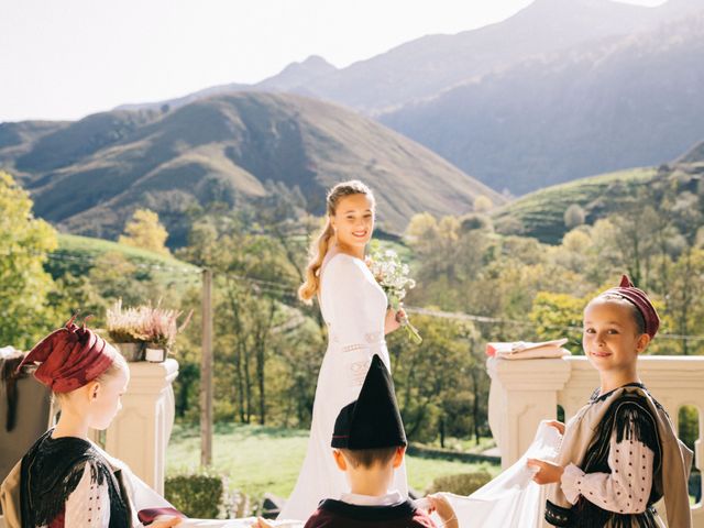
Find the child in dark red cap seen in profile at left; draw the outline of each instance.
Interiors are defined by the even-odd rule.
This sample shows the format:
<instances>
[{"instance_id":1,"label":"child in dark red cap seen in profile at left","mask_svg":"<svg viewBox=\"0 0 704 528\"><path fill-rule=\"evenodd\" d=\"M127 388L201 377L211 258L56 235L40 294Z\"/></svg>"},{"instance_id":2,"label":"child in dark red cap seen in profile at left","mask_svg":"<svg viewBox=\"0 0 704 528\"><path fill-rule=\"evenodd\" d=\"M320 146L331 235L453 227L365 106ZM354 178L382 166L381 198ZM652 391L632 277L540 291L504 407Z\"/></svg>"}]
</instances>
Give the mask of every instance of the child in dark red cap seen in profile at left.
<instances>
[{"instance_id":1,"label":"child in dark red cap seen in profile at left","mask_svg":"<svg viewBox=\"0 0 704 528\"><path fill-rule=\"evenodd\" d=\"M62 413L56 427L34 443L2 484L9 528L143 526L124 492L122 472L88 439L88 429L107 429L120 410L130 371L110 343L74 319L44 338L20 365L38 363L34 376L52 389ZM168 514L175 515L150 526L167 528L180 521L178 512Z\"/></svg>"}]
</instances>

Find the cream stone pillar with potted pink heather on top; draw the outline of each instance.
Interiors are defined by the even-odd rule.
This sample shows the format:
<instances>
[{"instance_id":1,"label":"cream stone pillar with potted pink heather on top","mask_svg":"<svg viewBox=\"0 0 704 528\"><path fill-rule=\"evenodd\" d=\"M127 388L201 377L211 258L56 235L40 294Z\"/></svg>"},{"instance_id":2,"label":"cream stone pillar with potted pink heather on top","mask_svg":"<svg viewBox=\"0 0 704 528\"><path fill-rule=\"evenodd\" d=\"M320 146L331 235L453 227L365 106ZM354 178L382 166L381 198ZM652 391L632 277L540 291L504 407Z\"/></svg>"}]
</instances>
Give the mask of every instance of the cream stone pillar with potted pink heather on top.
<instances>
[{"instance_id":1,"label":"cream stone pillar with potted pink heather on top","mask_svg":"<svg viewBox=\"0 0 704 528\"><path fill-rule=\"evenodd\" d=\"M129 365L130 385L122 396L122 410L106 431L106 451L163 495L166 446L176 411L172 383L178 363L168 359Z\"/></svg>"}]
</instances>

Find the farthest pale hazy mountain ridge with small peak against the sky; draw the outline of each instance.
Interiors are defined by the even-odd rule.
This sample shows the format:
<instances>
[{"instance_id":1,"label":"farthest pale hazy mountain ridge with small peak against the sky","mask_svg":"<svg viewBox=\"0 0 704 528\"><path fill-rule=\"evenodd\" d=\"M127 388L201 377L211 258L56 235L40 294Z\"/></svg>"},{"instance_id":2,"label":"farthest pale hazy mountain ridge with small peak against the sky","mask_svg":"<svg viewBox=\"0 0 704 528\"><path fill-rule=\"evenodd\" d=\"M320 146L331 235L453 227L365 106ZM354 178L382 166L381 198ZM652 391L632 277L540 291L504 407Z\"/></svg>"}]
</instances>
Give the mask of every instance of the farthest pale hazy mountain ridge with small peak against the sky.
<instances>
[{"instance_id":1,"label":"farthest pale hazy mountain ridge with small peak against the sky","mask_svg":"<svg viewBox=\"0 0 704 528\"><path fill-rule=\"evenodd\" d=\"M452 35L422 36L345 68L311 56L254 85L223 85L180 99L119 109L175 107L228 91L267 90L308 95L373 116L529 57L681 18L701 9L698 2L669 0L646 8L610 0L535 0L505 21Z\"/></svg>"}]
</instances>

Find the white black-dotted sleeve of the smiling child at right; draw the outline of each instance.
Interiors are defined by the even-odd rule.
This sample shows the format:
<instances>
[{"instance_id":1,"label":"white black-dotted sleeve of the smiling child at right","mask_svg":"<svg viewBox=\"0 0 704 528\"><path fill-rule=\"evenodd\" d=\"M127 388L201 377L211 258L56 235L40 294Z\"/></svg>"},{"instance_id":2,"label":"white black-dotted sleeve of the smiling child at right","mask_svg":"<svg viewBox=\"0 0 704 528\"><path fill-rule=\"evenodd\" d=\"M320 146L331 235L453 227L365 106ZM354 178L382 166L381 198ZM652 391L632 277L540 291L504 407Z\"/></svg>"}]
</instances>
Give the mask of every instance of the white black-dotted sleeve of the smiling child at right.
<instances>
[{"instance_id":1,"label":"white black-dotted sleeve of the smiling child at right","mask_svg":"<svg viewBox=\"0 0 704 528\"><path fill-rule=\"evenodd\" d=\"M608 466L610 473L584 473L569 464L562 474L564 496L572 504L580 495L601 508L619 514L640 514L648 506L652 486L654 453L638 440L616 442L610 439Z\"/></svg>"}]
</instances>

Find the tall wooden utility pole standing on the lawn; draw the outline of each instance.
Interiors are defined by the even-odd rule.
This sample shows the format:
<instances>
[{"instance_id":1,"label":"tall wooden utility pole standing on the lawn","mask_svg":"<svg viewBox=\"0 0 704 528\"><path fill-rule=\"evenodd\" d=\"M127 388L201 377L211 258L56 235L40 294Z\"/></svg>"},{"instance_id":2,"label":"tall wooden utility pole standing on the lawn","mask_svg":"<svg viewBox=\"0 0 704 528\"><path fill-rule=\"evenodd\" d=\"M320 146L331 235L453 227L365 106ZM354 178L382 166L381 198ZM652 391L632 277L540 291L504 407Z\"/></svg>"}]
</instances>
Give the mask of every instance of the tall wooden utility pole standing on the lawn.
<instances>
[{"instance_id":1,"label":"tall wooden utility pole standing on the lawn","mask_svg":"<svg viewBox=\"0 0 704 528\"><path fill-rule=\"evenodd\" d=\"M212 271L202 271L202 351L200 355L200 465L212 463Z\"/></svg>"}]
</instances>

